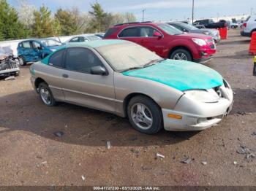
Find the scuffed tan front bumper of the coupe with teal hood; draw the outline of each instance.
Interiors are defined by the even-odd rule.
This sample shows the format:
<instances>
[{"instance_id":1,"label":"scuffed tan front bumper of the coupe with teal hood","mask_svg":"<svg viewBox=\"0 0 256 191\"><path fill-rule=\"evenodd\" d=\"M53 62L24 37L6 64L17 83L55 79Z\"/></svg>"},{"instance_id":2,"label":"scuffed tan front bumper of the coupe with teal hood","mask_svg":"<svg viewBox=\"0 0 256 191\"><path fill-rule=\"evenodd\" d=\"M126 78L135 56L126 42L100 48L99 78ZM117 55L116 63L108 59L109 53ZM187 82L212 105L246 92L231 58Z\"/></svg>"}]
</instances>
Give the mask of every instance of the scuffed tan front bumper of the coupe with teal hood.
<instances>
[{"instance_id":1,"label":"scuffed tan front bumper of the coupe with teal hood","mask_svg":"<svg viewBox=\"0 0 256 191\"><path fill-rule=\"evenodd\" d=\"M226 88L228 98L220 98L217 103L189 104L178 101L175 109L162 109L165 130L194 131L211 128L221 122L233 108L233 91ZM179 119L168 117L169 114L181 116Z\"/></svg>"}]
</instances>

